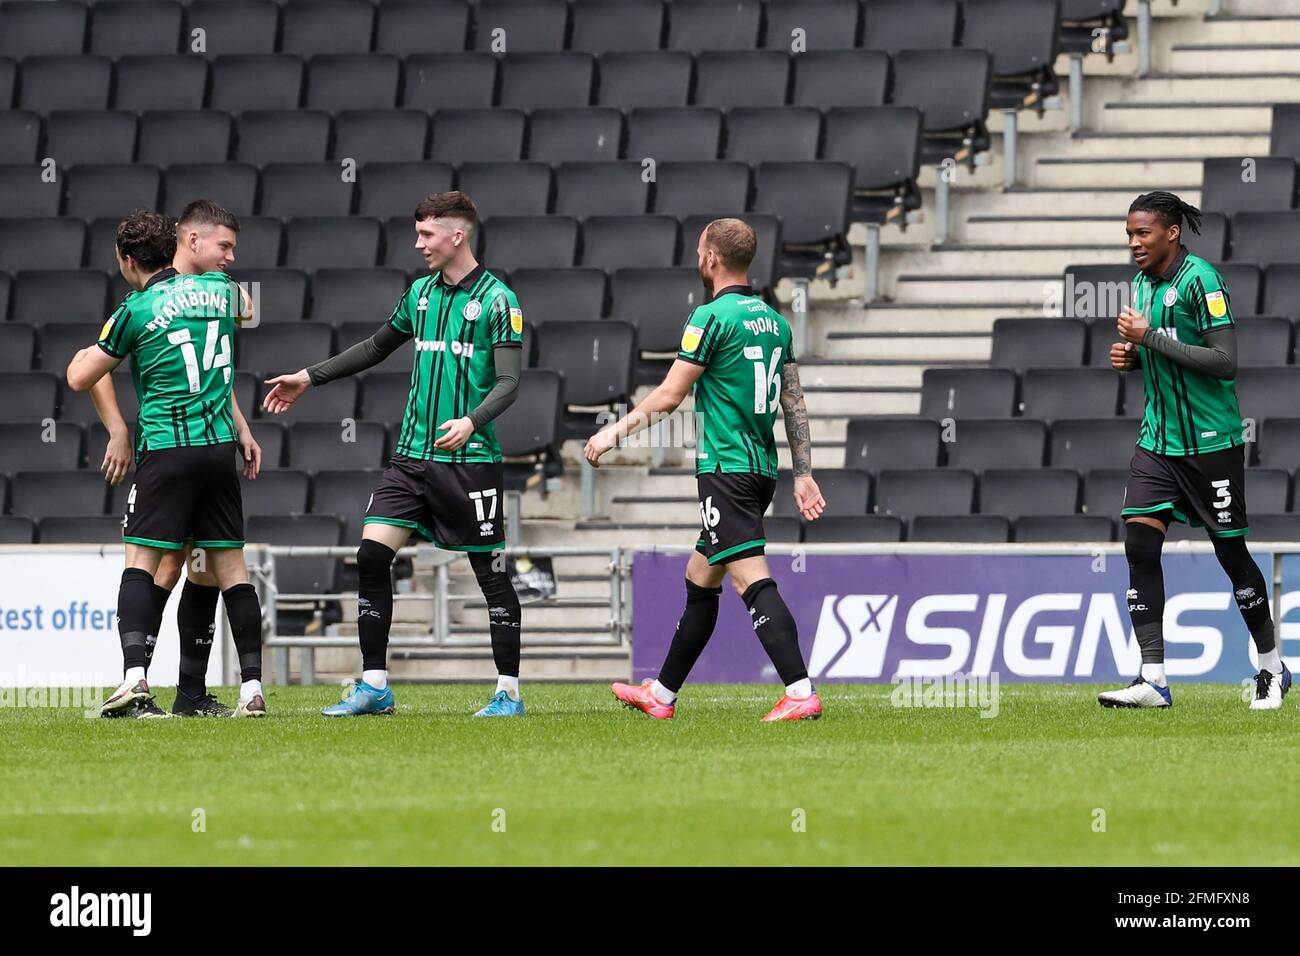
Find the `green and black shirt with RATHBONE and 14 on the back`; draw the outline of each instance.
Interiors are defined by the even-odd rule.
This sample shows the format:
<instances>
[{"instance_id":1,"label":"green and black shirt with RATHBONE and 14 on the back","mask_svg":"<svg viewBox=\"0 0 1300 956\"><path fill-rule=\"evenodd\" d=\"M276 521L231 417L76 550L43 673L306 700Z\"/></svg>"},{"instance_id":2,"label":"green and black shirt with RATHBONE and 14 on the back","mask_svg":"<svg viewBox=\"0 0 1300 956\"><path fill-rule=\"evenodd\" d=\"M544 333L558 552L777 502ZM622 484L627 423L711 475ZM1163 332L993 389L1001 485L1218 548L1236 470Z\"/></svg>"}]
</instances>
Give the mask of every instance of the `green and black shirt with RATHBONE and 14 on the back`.
<instances>
[{"instance_id":1,"label":"green and black shirt with RATHBONE and 14 on the back","mask_svg":"<svg viewBox=\"0 0 1300 956\"><path fill-rule=\"evenodd\" d=\"M162 269L104 323L99 347L114 359L131 356L136 459L153 449L235 441L230 388L240 302L224 272Z\"/></svg>"}]
</instances>

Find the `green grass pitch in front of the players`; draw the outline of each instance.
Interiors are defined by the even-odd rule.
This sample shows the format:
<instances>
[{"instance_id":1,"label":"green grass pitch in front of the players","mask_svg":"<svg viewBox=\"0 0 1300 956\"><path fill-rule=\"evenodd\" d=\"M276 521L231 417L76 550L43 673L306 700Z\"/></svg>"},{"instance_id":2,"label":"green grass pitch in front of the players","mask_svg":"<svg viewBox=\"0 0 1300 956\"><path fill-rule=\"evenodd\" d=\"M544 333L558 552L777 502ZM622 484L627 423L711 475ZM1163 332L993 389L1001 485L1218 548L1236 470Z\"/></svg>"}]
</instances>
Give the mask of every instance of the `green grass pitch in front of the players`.
<instances>
[{"instance_id":1,"label":"green grass pitch in front of the players","mask_svg":"<svg viewBox=\"0 0 1300 956\"><path fill-rule=\"evenodd\" d=\"M354 719L317 714L326 685L269 688L265 721L0 711L0 860L1300 862L1300 714L1239 687L1117 711L1091 685L1002 684L982 718L827 684L822 721L785 724L759 721L774 687L688 685L656 722L604 685L525 684L528 717L468 717L490 689L398 685L395 715Z\"/></svg>"}]
</instances>

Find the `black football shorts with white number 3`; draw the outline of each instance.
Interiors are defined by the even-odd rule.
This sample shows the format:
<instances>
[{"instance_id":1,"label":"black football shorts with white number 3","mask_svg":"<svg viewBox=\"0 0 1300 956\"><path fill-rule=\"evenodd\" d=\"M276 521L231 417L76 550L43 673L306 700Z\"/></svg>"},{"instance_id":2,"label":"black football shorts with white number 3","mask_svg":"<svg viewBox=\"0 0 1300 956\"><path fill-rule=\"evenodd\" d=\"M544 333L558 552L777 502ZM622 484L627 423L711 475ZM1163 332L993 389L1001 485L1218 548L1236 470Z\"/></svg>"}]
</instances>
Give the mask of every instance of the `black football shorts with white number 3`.
<instances>
[{"instance_id":1,"label":"black football shorts with white number 3","mask_svg":"<svg viewBox=\"0 0 1300 956\"><path fill-rule=\"evenodd\" d=\"M1249 531L1244 445L1204 455L1157 455L1139 447L1128 467L1122 518L1173 518L1218 537Z\"/></svg>"}]
</instances>

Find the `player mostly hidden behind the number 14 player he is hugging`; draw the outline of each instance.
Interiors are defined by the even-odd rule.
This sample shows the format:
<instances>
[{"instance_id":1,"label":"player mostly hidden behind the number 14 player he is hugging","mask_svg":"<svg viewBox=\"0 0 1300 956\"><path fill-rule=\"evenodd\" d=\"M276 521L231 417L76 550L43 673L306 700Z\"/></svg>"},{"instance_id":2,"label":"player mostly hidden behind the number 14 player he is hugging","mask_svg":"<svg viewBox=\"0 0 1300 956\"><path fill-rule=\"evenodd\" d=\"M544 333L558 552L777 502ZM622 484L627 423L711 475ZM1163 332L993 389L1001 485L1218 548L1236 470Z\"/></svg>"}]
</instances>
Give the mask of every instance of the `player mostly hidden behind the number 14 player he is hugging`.
<instances>
[{"instance_id":1,"label":"player mostly hidden behind the number 14 player he is hugging","mask_svg":"<svg viewBox=\"0 0 1300 956\"><path fill-rule=\"evenodd\" d=\"M239 221L229 211L211 199L198 199L181 213L177 220L176 258L172 268L182 276L199 276L205 272L226 272L235 260L235 246L239 241ZM108 431L108 445L100 471L110 484L120 484L126 476L131 462L131 441L126 421L117 403L113 376L104 376L91 389L91 399L100 421ZM252 437L252 429L244 420L230 392L230 414L239 436L239 447L244 459L244 476L257 477L261 470L261 447ZM212 641L216 635L217 596L221 589L216 576L207 570L205 561L192 558L187 542L181 551L166 551L153 578L153 597L157 615L151 635L157 635L162 626L162 611L168 598L181 579L181 568L187 570L186 584L176 609L177 631L181 639L181 669L177 679L176 702L172 713L176 717L229 717L230 708L208 693L205 676L208 657L212 654ZM191 559L192 558L192 559ZM152 648L151 648L152 650Z\"/></svg>"}]
</instances>

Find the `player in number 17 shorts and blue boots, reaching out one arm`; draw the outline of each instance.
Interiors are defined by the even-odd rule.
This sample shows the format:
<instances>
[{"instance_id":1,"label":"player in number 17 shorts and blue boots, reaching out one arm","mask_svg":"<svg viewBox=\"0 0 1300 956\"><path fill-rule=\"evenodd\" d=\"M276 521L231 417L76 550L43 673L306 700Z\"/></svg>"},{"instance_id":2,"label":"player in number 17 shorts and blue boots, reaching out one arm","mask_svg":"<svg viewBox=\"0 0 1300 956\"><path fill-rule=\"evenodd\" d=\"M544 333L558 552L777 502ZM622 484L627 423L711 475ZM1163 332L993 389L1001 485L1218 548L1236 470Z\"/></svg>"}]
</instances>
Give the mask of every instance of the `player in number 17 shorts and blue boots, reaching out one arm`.
<instances>
[{"instance_id":1,"label":"player in number 17 shorts and blue boots, reaching out one arm","mask_svg":"<svg viewBox=\"0 0 1300 956\"><path fill-rule=\"evenodd\" d=\"M493 419L515 401L524 313L515 293L473 255L478 211L464 193L436 193L415 209L416 280L370 337L311 368L268 380L263 406L289 408L312 386L378 364L415 338L411 395L396 449L365 510L356 551L361 680L328 717L393 713L387 644L393 559L412 533L465 551L488 601L497 691L477 717L517 717L519 597L506 574L500 445Z\"/></svg>"}]
</instances>

